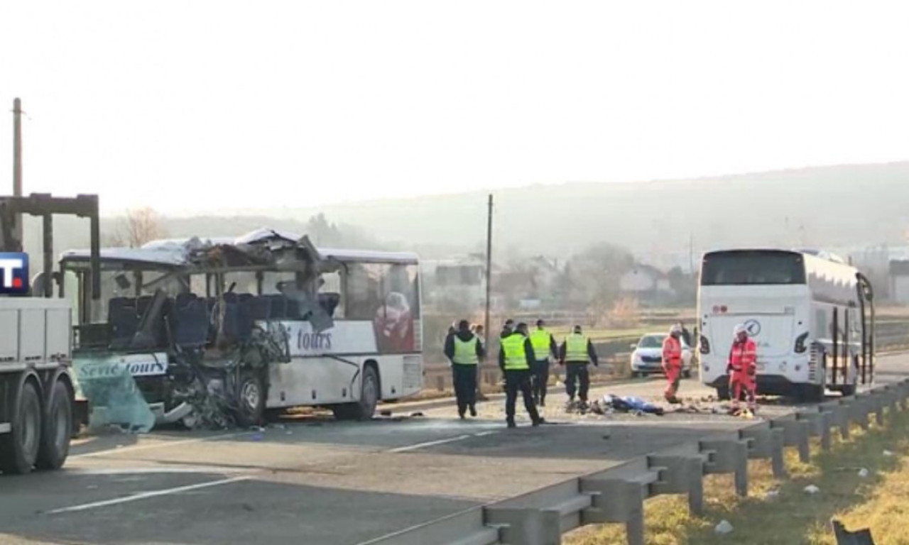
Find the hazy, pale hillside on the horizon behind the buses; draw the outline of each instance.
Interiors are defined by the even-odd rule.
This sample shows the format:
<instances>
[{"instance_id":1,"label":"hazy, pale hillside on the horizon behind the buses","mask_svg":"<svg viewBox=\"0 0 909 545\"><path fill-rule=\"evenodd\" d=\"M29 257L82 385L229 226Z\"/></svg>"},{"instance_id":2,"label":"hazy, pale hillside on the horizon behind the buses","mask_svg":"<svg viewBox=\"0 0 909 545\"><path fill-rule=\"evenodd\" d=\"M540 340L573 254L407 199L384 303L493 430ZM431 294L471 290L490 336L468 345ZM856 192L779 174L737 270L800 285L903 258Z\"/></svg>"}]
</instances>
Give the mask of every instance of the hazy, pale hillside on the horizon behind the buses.
<instances>
[{"instance_id":1,"label":"hazy, pale hillside on the horizon behind the buses","mask_svg":"<svg viewBox=\"0 0 909 545\"><path fill-rule=\"evenodd\" d=\"M714 247L893 244L903 243L909 231L909 162L694 180L535 185L493 193L499 256L566 256L608 242L649 263L687 265L690 255L696 259ZM231 235L262 225L304 233L310 218L324 213L344 233L344 245L409 248L438 257L484 247L486 195L319 208L281 203L268 210L165 218L164 223L172 236ZM87 244L87 223L76 222L55 221L57 252ZM103 228L112 224L107 218ZM26 223L26 229L26 246L37 252L40 224Z\"/></svg>"}]
</instances>

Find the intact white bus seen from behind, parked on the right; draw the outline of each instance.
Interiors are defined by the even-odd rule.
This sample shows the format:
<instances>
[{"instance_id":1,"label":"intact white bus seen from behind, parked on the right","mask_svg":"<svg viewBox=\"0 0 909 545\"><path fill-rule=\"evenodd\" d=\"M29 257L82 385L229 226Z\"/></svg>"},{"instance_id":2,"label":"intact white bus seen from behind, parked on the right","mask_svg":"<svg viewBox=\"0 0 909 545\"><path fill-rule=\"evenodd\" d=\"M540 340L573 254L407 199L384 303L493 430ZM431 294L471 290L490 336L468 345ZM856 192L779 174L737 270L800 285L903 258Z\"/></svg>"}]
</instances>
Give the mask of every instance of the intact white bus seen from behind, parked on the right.
<instances>
[{"instance_id":1,"label":"intact white bus seen from behind, parked on the right","mask_svg":"<svg viewBox=\"0 0 909 545\"><path fill-rule=\"evenodd\" d=\"M757 348L757 391L820 401L874 380L874 297L861 272L809 251L704 254L697 296L701 381L729 398L735 324Z\"/></svg>"}]
</instances>

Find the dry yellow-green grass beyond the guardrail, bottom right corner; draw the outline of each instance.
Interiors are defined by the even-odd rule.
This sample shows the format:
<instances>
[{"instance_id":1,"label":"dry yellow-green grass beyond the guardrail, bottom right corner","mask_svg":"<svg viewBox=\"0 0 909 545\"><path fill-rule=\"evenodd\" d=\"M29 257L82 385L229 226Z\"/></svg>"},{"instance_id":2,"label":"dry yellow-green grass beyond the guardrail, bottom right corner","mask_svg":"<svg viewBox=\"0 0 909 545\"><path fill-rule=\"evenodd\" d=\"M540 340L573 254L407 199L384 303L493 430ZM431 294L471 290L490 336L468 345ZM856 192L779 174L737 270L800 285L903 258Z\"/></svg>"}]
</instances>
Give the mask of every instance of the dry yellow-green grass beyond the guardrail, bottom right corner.
<instances>
[{"instance_id":1,"label":"dry yellow-green grass beyond the guardrail, bottom right corner","mask_svg":"<svg viewBox=\"0 0 909 545\"><path fill-rule=\"evenodd\" d=\"M832 451L813 445L812 463L802 464L794 449L786 449L790 478L775 480L768 461L752 461L750 495L735 496L731 476L704 479L703 517L688 514L683 496L664 496L644 505L645 541L660 545L807 544L834 545L830 520L842 520L848 530L870 528L877 545L909 544L909 413L888 415L886 426L863 432L854 428L849 441L834 434ZM884 450L894 456L884 456ZM858 472L867 469L862 478ZM804 492L814 484L815 495ZM767 490L779 490L773 499ZM714 526L732 523L732 533L719 536ZM624 543L620 525L576 530L568 545Z\"/></svg>"}]
</instances>

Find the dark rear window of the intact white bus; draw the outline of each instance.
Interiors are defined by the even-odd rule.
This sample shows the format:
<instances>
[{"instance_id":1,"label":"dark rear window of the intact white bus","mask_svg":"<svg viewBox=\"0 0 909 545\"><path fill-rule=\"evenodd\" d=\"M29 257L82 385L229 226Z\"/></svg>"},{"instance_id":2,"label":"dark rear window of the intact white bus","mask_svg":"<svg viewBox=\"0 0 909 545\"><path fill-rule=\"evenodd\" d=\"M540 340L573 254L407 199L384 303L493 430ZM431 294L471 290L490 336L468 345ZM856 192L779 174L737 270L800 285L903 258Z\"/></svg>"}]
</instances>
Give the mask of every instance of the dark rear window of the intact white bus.
<instances>
[{"instance_id":1,"label":"dark rear window of the intact white bus","mask_svg":"<svg viewBox=\"0 0 909 545\"><path fill-rule=\"evenodd\" d=\"M724 252L704 256L701 285L804 284L804 259L788 252Z\"/></svg>"}]
</instances>

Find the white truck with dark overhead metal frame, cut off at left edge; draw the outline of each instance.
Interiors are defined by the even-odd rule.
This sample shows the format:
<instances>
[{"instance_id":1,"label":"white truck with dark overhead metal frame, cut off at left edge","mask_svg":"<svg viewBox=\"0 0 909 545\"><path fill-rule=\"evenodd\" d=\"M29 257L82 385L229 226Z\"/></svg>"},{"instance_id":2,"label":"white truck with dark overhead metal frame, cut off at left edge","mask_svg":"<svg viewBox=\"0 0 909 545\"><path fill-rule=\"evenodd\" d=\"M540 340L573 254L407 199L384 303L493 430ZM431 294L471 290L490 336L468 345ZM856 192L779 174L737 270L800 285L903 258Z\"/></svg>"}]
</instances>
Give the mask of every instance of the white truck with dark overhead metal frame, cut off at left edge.
<instances>
[{"instance_id":1,"label":"white truck with dark overhead metal frame, cut off at left edge","mask_svg":"<svg viewBox=\"0 0 909 545\"><path fill-rule=\"evenodd\" d=\"M98 198L48 194L0 197L0 247L21 252L16 223L23 213L44 218L44 269L32 282L32 295L0 297L0 472L55 470L69 455L78 431L73 377L73 312L68 301L51 299L55 279L53 215L69 214L91 220L92 268L98 266ZM92 297L100 293L92 282ZM85 411L87 414L87 411Z\"/></svg>"}]
</instances>

